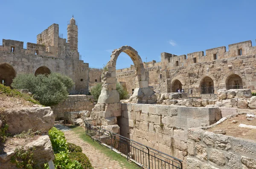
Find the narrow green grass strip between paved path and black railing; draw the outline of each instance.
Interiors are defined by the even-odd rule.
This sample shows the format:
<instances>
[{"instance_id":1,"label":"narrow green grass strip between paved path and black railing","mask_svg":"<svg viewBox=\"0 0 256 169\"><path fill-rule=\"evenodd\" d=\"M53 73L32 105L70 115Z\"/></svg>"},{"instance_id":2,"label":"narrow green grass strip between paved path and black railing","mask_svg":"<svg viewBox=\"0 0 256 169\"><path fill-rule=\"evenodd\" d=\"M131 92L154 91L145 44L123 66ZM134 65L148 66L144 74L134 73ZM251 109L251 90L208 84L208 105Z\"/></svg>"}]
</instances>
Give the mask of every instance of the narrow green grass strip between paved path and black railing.
<instances>
[{"instance_id":1,"label":"narrow green grass strip between paved path and black railing","mask_svg":"<svg viewBox=\"0 0 256 169\"><path fill-rule=\"evenodd\" d=\"M109 158L112 158L113 160L117 160L120 162L120 165L127 168L127 169L140 169L140 167L132 162L127 161L127 158L122 157L121 155L117 154L116 152L112 151L111 149L108 149L105 146L102 146L97 141L93 141L89 136L85 134L85 129L82 127L74 127L69 126L72 128L72 131L79 135L79 137L89 143L90 145L94 146L96 149L98 149L103 154L107 155ZM122 164L121 164L122 163Z\"/></svg>"}]
</instances>

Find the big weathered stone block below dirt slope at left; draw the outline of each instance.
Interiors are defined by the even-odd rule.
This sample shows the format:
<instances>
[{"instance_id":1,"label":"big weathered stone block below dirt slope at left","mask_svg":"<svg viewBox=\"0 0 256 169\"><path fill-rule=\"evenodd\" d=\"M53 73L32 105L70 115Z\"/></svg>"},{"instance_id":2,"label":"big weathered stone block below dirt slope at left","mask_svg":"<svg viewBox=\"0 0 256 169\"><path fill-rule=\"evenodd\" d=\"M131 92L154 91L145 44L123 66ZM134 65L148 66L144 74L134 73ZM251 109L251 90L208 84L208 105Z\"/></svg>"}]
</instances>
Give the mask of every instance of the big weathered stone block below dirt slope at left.
<instances>
[{"instance_id":1,"label":"big weathered stone block below dirt slope at left","mask_svg":"<svg viewBox=\"0 0 256 169\"><path fill-rule=\"evenodd\" d=\"M48 132L54 125L54 115L50 107L30 107L6 110L8 131L12 134L29 129Z\"/></svg>"}]
</instances>

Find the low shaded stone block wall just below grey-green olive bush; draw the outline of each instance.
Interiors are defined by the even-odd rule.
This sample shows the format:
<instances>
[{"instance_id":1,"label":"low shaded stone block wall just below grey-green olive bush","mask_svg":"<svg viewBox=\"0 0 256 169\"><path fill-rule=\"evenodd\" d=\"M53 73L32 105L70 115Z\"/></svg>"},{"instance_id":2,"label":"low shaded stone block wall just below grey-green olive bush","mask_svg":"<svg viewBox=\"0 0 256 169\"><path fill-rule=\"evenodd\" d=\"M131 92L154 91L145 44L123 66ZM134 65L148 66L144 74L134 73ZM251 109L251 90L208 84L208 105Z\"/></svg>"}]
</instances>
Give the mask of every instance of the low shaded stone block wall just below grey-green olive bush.
<instances>
[{"instance_id":1,"label":"low shaded stone block wall just below grey-green olive bush","mask_svg":"<svg viewBox=\"0 0 256 169\"><path fill-rule=\"evenodd\" d=\"M52 106L55 120L63 120L65 112L92 111L94 107L93 96L69 95L64 102Z\"/></svg>"}]
</instances>

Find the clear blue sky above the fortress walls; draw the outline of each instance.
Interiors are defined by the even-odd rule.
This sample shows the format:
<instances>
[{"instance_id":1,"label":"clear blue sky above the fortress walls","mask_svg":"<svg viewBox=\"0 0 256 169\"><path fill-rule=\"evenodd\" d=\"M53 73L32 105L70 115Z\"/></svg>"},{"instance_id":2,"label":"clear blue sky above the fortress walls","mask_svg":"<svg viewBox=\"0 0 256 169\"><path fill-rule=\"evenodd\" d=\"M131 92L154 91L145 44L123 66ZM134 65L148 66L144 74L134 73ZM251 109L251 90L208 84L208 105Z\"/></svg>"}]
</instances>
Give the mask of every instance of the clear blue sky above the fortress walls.
<instances>
[{"instance_id":1,"label":"clear blue sky above the fortress walls","mask_svg":"<svg viewBox=\"0 0 256 169\"><path fill-rule=\"evenodd\" d=\"M124 45L143 61L160 61L161 52L205 52L246 40L255 46L255 7L255 0L3 0L0 39L36 43L37 34L52 23L67 38L73 14L79 52L89 66L102 67L111 51ZM131 64L122 53L116 68Z\"/></svg>"}]
</instances>

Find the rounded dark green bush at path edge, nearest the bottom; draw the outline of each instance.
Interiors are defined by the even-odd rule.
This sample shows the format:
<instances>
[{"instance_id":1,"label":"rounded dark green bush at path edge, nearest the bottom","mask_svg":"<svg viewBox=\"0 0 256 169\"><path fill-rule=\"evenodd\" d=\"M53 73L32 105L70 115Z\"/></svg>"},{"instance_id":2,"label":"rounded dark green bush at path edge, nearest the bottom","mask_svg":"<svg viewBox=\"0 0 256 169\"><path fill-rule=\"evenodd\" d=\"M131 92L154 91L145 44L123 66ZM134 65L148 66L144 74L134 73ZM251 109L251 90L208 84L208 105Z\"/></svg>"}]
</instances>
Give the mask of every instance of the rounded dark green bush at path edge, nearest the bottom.
<instances>
[{"instance_id":1,"label":"rounded dark green bush at path edge, nearest the bottom","mask_svg":"<svg viewBox=\"0 0 256 169\"><path fill-rule=\"evenodd\" d=\"M81 163L81 166L83 169L93 169L93 166L90 163L90 160L87 158L87 156L84 153L71 152L69 154L69 157L71 160L77 160L79 163Z\"/></svg>"}]
</instances>

